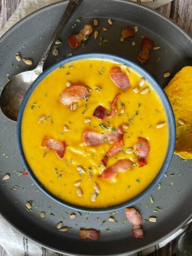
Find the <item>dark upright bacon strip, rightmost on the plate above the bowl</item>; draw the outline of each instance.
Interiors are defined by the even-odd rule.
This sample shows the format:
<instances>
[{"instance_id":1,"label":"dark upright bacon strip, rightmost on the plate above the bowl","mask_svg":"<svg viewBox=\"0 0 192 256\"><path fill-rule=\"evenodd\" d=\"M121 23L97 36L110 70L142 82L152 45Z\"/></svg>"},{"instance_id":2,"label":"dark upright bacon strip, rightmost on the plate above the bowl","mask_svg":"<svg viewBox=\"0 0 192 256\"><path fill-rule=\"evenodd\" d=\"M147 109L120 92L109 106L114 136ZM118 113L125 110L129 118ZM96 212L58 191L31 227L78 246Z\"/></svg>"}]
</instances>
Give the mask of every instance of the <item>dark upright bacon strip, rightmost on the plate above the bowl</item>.
<instances>
[{"instance_id":1,"label":"dark upright bacon strip, rightmost on the plate above the bowl","mask_svg":"<svg viewBox=\"0 0 192 256\"><path fill-rule=\"evenodd\" d=\"M139 52L138 60L141 63L146 62L149 59L149 52L153 49L154 42L150 38L143 38L141 42L142 51Z\"/></svg>"}]
</instances>

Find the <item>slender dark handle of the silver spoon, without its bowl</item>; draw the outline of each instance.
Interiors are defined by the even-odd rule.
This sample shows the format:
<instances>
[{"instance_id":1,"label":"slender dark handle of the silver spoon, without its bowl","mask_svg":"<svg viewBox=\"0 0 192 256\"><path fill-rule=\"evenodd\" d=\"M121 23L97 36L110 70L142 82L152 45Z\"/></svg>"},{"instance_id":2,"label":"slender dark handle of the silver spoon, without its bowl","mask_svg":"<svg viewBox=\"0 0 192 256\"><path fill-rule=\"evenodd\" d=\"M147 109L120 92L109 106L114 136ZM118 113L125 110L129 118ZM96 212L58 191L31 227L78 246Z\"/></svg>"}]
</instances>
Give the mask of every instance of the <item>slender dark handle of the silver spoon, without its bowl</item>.
<instances>
[{"instance_id":1,"label":"slender dark handle of the silver spoon, without its bowl","mask_svg":"<svg viewBox=\"0 0 192 256\"><path fill-rule=\"evenodd\" d=\"M65 12L63 13L57 28L54 31L54 34L52 36L52 39L50 41L50 43L47 45L45 51L42 54L41 59L39 60L38 66L39 68L43 69L44 63L53 47L53 45L55 44L55 42L57 41L57 38L59 37L59 35L61 34L62 30L65 28L65 26L67 25L67 22L69 21L69 19L71 18L71 16L74 14L74 12L76 11L77 7L83 2L83 0L69 0L69 3L67 5L67 8L65 10Z\"/></svg>"}]
</instances>

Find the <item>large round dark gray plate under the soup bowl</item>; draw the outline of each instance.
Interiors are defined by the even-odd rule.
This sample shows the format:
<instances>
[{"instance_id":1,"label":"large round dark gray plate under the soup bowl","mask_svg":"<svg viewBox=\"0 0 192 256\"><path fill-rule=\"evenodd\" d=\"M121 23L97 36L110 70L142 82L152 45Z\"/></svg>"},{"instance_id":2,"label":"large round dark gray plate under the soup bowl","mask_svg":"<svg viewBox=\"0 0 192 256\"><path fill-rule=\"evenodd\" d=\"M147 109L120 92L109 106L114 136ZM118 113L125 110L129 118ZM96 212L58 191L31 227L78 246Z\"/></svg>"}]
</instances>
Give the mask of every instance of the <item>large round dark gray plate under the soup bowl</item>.
<instances>
[{"instance_id":1,"label":"large round dark gray plate under the soup bowl","mask_svg":"<svg viewBox=\"0 0 192 256\"><path fill-rule=\"evenodd\" d=\"M34 67L37 65L39 56L50 40L66 5L66 1L60 2L29 15L0 39L0 87L6 84L7 74L11 78L28 68L24 62L17 62L17 52L21 53L22 58L33 59ZM79 17L82 17L81 22L76 22ZM95 40L91 35L85 47L71 50L67 36L76 34L85 23L93 25L95 18L99 22L98 39ZM108 24L109 18L114 22L112 26ZM72 28L75 23L75 28ZM134 47L132 39L126 39L123 43L119 41L121 30L127 25L137 25L139 28L133 38L136 43ZM108 31L102 31L103 27L107 27ZM100 36L102 40L107 39L110 46L100 46ZM155 45L161 46L161 49L151 51L150 60L142 67L149 71L162 87L180 68L192 65L190 36L158 12L128 1L84 0L60 36L62 44L59 45L59 55L55 57L50 54L45 68L58 59L65 58L69 53L82 52L115 53L137 62L142 36L153 39ZM164 78L163 73L167 71L171 73L171 77ZM23 165L17 149L16 123L9 121L1 112L0 120L0 178L3 178L2 173L11 175L7 182L0 183L0 212L14 228L37 243L68 255L130 254L169 237L192 217L191 161L186 162L178 156L173 156L167 177L162 180L161 189L154 189L151 195L135 205L143 219L157 217L156 223L142 223L145 238L137 239L131 235L132 225L124 221L124 210L113 215L116 222L109 222L110 213L89 214L73 211L38 191L29 177L20 175ZM150 196L154 202L151 202ZM27 201L33 201L32 211L26 210ZM39 212L42 211L46 212L45 218L40 217ZM73 220L69 217L72 212L76 214ZM56 226L60 221L70 229L63 233L58 231ZM79 239L78 230L81 227L99 229L99 241Z\"/></svg>"}]
</instances>

